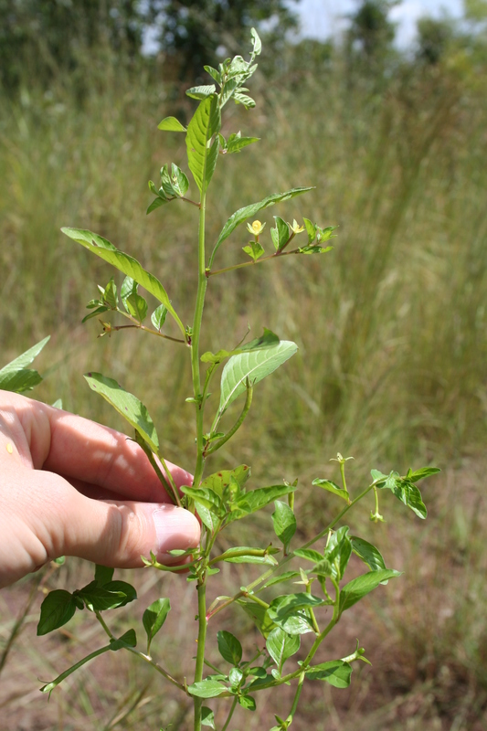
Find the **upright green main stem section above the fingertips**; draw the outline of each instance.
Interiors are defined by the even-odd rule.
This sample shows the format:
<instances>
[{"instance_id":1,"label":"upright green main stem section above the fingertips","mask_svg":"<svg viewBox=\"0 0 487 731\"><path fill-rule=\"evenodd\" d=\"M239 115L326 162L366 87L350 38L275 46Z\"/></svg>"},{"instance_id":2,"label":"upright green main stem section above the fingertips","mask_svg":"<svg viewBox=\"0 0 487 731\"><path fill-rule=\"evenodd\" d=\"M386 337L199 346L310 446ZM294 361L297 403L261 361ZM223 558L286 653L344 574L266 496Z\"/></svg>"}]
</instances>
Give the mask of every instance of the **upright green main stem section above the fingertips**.
<instances>
[{"instance_id":1,"label":"upright green main stem section above the fingertips","mask_svg":"<svg viewBox=\"0 0 487 731\"><path fill-rule=\"evenodd\" d=\"M198 229L198 287L196 291L195 319L193 322L193 335L191 339L191 370L193 374L193 390L196 398L196 468L193 484L197 487L203 475L203 411L205 404L202 400L201 378L199 371L199 335L201 333L201 321L203 319L203 308L206 294L206 270L205 270L205 214L206 214L206 191L201 195L199 209Z\"/></svg>"}]
</instances>

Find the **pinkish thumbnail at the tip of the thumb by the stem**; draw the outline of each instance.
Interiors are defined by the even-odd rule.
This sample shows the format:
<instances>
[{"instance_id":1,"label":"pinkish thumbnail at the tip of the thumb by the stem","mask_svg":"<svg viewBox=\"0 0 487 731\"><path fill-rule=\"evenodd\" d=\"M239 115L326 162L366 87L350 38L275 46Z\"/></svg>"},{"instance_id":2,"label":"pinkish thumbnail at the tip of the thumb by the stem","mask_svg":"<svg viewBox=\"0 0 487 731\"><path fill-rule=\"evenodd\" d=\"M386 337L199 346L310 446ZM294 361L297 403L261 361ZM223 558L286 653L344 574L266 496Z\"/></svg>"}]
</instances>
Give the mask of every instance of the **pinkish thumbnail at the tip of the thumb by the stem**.
<instances>
[{"instance_id":1,"label":"pinkish thumbnail at the tip of the thumb by the stem","mask_svg":"<svg viewBox=\"0 0 487 731\"><path fill-rule=\"evenodd\" d=\"M196 548L199 542L199 523L195 515L176 505L161 505L153 513L156 555L167 560L177 561L175 556L168 556L168 551L176 548Z\"/></svg>"}]
</instances>

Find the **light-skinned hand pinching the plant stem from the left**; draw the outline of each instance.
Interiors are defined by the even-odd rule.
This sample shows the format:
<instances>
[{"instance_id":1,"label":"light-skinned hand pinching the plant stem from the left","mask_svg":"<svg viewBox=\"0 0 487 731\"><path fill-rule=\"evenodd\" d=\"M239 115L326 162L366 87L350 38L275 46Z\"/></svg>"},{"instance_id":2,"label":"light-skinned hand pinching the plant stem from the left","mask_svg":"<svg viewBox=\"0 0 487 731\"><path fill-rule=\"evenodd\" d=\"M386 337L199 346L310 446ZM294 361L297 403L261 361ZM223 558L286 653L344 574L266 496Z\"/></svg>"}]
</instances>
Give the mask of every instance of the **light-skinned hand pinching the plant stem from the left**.
<instances>
[{"instance_id":1,"label":"light-skinned hand pinching the plant stem from the left","mask_svg":"<svg viewBox=\"0 0 487 731\"><path fill-rule=\"evenodd\" d=\"M167 462L178 487L192 476ZM0 390L0 588L58 556L142 567L196 547L143 450L113 429Z\"/></svg>"}]
</instances>

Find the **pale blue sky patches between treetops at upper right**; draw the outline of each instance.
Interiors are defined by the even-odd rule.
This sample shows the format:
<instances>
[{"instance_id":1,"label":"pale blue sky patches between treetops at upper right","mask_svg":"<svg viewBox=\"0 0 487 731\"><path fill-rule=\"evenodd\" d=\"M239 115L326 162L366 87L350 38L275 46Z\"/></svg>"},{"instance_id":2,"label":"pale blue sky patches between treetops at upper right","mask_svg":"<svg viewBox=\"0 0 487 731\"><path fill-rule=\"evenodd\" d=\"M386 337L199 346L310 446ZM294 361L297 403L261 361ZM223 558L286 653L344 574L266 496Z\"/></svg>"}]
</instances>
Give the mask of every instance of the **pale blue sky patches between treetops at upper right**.
<instances>
[{"instance_id":1,"label":"pale blue sky patches between treetops at upper right","mask_svg":"<svg viewBox=\"0 0 487 731\"><path fill-rule=\"evenodd\" d=\"M297 7L302 35L323 39L339 33L346 25L344 16L353 13L357 5L357 0L301 0ZM441 17L445 12L460 17L461 10L461 0L402 0L389 15L397 23L397 46L408 48L414 42L418 17Z\"/></svg>"}]
</instances>

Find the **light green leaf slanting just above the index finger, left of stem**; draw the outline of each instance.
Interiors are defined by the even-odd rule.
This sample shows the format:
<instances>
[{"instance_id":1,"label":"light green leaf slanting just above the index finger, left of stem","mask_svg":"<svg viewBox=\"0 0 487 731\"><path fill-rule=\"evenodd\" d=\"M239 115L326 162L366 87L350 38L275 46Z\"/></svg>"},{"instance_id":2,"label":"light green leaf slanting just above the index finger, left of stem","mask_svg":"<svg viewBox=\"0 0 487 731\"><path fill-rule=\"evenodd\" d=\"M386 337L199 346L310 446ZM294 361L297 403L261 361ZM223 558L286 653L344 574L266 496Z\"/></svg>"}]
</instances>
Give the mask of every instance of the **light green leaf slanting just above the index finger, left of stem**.
<instances>
[{"instance_id":1,"label":"light green leaf slanting just above the index finger, left of stem","mask_svg":"<svg viewBox=\"0 0 487 731\"><path fill-rule=\"evenodd\" d=\"M91 390L99 393L119 414L122 414L122 417L131 424L133 429L141 434L151 449L157 453L159 450L157 432L155 431L154 422L143 406L142 401L125 391L113 378L102 376L101 373L85 373L84 377Z\"/></svg>"}]
</instances>

